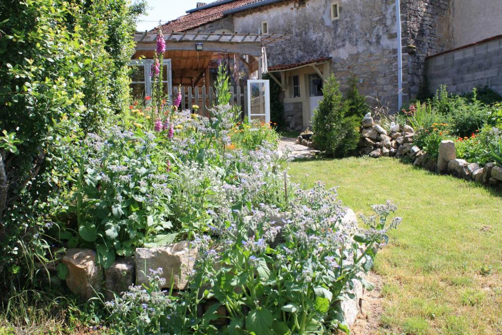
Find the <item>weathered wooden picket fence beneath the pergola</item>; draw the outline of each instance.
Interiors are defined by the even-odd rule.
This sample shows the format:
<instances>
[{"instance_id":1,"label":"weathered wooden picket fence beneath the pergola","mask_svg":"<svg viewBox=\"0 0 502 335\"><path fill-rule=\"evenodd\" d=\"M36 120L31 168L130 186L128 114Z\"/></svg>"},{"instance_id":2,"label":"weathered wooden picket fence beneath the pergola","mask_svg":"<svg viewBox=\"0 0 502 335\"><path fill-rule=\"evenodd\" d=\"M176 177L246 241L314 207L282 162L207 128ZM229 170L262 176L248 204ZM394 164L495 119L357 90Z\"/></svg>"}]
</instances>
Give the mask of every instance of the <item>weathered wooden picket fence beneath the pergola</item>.
<instances>
[{"instance_id":1,"label":"weathered wooden picket fence beneath the pergola","mask_svg":"<svg viewBox=\"0 0 502 335\"><path fill-rule=\"evenodd\" d=\"M173 97L178 96L179 87L173 87ZM241 107L243 114L247 114L247 89L245 86L237 86L236 89L230 86L230 104ZM256 104L252 101L252 106ZM199 114L208 116L208 109L216 103L216 93L212 86L206 91L205 87L182 86L181 87L181 109L192 109L194 104L199 106Z\"/></svg>"}]
</instances>

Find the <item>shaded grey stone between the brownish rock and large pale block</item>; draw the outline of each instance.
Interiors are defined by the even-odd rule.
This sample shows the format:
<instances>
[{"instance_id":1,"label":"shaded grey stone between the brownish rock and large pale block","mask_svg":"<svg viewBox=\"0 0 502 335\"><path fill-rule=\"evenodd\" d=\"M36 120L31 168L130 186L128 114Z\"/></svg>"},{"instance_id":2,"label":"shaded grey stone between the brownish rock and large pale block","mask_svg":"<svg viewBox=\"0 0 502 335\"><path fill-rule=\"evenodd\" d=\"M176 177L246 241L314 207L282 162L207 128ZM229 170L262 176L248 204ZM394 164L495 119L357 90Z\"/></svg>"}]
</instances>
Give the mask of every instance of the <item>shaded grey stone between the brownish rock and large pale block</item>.
<instances>
[{"instance_id":1,"label":"shaded grey stone between the brownish rock and large pale block","mask_svg":"<svg viewBox=\"0 0 502 335\"><path fill-rule=\"evenodd\" d=\"M106 301L113 299L113 293L120 295L126 292L136 279L134 259L117 258L115 262L104 270L104 296Z\"/></svg>"}]
</instances>

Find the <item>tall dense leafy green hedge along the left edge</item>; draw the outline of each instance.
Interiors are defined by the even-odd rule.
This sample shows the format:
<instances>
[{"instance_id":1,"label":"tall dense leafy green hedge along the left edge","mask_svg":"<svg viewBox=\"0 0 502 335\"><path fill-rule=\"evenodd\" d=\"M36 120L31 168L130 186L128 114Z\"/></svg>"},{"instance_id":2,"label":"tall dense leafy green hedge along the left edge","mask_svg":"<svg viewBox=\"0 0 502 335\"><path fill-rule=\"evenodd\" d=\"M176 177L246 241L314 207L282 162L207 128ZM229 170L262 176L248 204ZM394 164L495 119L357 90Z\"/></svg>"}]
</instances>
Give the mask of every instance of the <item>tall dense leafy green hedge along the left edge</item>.
<instances>
[{"instance_id":1,"label":"tall dense leafy green hedge along the left edge","mask_svg":"<svg viewBox=\"0 0 502 335\"><path fill-rule=\"evenodd\" d=\"M45 261L47 243L33 237L51 224L47 197L67 182L55 175L68 174L61 146L126 108L126 65L142 8L126 0L0 3L0 127L17 141L0 164L0 185L8 185L0 189L3 283L36 270L19 271L20 264Z\"/></svg>"}]
</instances>

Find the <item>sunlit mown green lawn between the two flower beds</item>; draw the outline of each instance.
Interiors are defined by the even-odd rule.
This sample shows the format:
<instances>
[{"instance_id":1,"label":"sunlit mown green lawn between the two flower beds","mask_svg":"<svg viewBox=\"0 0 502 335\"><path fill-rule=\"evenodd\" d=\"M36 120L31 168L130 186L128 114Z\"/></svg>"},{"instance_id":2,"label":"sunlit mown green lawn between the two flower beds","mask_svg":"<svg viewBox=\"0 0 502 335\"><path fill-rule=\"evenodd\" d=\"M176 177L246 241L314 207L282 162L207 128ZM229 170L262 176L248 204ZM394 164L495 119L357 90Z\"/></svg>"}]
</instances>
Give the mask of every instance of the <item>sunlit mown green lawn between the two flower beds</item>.
<instances>
[{"instance_id":1,"label":"sunlit mown green lawn between the two flower beds","mask_svg":"<svg viewBox=\"0 0 502 335\"><path fill-rule=\"evenodd\" d=\"M501 193L391 158L290 167L303 188L339 186L356 213L388 199L398 205L403 223L375 261L385 283L379 333L502 334Z\"/></svg>"}]
</instances>

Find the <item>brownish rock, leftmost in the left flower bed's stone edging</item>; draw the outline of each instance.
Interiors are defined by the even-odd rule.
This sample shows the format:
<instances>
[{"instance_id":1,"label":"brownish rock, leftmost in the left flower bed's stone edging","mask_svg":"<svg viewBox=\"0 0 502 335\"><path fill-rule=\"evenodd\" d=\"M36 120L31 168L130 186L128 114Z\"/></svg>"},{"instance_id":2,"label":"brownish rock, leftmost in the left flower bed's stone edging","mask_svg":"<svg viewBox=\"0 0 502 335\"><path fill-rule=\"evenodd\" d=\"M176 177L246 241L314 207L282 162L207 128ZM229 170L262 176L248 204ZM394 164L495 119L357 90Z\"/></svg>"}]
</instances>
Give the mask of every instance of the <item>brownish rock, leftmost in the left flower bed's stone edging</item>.
<instances>
[{"instance_id":1,"label":"brownish rock, leftmost in the left flower bed's stone edging","mask_svg":"<svg viewBox=\"0 0 502 335\"><path fill-rule=\"evenodd\" d=\"M66 285L84 300L88 300L101 292L103 273L96 264L96 253L90 249L68 249L63 257L68 267Z\"/></svg>"}]
</instances>

